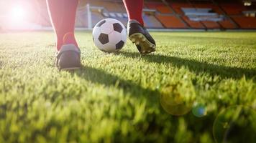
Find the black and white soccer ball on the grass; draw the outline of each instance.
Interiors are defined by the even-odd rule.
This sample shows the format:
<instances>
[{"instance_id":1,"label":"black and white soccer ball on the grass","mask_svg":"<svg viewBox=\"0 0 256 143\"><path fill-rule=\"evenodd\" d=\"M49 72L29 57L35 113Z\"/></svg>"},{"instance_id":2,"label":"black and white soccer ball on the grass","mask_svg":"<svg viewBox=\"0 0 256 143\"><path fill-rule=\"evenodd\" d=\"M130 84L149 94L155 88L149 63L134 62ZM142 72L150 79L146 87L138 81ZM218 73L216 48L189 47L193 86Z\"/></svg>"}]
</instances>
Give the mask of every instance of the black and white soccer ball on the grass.
<instances>
[{"instance_id":1,"label":"black and white soccer ball on the grass","mask_svg":"<svg viewBox=\"0 0 256 143\"><path fill-rule=\"evenodd\" d=\"M103 19L93 28L93 42L101 51L119 51L126 41L127 31L116 19Z\"/></svg>"}]
</instances>

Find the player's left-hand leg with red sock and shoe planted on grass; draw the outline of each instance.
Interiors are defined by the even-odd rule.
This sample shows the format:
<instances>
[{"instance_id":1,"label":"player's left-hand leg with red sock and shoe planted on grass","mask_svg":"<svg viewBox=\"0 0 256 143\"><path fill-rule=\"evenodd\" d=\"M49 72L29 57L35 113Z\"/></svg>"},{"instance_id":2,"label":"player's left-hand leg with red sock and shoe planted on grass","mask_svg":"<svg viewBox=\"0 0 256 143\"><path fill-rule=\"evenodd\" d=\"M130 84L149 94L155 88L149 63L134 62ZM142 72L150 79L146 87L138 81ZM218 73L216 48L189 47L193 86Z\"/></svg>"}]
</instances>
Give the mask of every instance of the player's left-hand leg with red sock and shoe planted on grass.
<instances>
[{"instance_id":1,"label":"player's left-hand leg with red sock and shoe planted on grass","mask_svg":"<svg viewBox=\"0 0 256 143\"><path fill-rule=\"evenodd\" d=\"M52 26L56 34L57 66L60 69L78 69L80 50L74 36L78 0L47 0Z\"/></svg>"}]
</instances>

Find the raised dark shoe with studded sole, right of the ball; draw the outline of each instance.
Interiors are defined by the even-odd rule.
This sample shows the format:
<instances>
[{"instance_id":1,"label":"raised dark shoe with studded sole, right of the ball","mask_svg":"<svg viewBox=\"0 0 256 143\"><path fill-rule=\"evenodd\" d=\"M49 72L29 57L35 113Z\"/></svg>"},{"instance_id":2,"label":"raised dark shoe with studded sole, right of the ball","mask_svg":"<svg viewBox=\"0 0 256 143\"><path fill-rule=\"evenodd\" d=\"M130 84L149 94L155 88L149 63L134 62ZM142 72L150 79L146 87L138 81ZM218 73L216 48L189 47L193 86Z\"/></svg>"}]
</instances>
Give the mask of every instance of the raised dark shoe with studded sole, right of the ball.
<instances>
[{"instance_id":1,"label":"raised dark shoe with studded sole, right of the ball","mask_svg":"<svg viewBox=\"0 0 256 143\"><path fill-rule=\"evenodd\" d=\"M128 36L132 43L136 44L141 54L149 54L155 51L155 40L150 33L136 20L130 20L127 26Z\"/></svg>"}]
</instances>

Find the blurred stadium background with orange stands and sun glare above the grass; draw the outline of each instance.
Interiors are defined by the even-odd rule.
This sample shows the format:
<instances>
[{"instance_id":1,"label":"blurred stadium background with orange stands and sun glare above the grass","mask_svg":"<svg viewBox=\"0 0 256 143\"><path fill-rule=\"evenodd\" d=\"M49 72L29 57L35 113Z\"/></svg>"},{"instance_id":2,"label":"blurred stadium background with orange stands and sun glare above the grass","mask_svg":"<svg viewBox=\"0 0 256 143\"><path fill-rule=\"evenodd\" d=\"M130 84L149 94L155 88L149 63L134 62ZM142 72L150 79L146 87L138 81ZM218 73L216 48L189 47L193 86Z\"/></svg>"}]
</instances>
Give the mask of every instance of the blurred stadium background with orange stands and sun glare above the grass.
<instances>
[{"instance_id":1,"label":"blurred stadium background with orange stands and sun glare above the grass","mask_svg":"<svg viewBox=\"0 0 256 143\"><path fill-rule=\"evenodd\" d=\"M256 29L256 0L146 0L150 29ZM80 0L76 28L91 29L99 20L127 24L122 0ZM0 31L51 29L45 0L0 0Z\"/></svg>"}]
</instances>

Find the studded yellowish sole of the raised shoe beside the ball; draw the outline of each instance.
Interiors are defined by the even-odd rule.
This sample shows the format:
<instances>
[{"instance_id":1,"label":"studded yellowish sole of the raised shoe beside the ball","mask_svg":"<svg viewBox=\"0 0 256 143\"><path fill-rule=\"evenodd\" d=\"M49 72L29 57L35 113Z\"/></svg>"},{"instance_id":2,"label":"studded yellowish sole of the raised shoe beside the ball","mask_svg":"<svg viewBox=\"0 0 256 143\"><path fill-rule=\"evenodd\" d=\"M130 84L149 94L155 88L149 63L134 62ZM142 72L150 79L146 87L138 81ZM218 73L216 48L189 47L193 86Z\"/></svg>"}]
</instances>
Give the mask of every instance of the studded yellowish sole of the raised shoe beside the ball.
<instances>
[{"instance_id":1,"label":"studded yellowish sole of the raised shoe beside the ball","mask_svg":"<svg viewBox=\"0 0 256 143\"><path fill-rule=\"evenodd\" d=\"M148 41L146 36L141 33L134 33L129 36L129 39L132 41L132 43L141 47L139 50L141 54L150 54L151 52L155 51L155 44Z\"/></svg>"}]
</instances>

